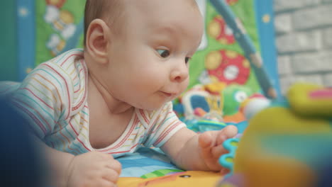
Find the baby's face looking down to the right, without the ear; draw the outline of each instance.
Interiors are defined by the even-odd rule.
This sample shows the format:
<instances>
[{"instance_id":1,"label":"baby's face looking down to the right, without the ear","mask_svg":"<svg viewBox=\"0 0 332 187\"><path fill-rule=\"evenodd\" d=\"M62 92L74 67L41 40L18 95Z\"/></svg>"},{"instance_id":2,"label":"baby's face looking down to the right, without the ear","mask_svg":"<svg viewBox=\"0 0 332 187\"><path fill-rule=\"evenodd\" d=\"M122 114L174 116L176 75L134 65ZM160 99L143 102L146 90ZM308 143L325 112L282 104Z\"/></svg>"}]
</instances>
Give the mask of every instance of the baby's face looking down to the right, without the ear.
<instances>
[{"instance_id":1,"label":"baby's face looking down to the right, without the ear","mask_svg":"<svg viewBox=\"0 0 332 187\"><path fill-rule=\"evenodd\" d=\"M203 20L194 0L126 1L125 7L121 34L111 35L108 87L118 100L154 110L187 88Z\"/></svg>"}]
</instances>

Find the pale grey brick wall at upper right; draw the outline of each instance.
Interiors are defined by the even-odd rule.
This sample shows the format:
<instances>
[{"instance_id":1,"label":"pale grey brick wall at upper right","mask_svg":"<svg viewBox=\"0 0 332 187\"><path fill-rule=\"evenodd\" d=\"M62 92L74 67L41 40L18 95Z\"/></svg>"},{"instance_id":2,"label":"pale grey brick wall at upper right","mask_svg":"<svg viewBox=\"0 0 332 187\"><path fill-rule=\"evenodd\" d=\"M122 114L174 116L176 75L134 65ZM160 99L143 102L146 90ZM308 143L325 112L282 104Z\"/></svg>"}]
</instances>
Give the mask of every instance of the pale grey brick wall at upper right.
<instances>
[{"instance_id":1,"label":"pale grey brick wall at upper right","mask_svg":"<svg viewBox=\"0 0 332 187\"><path fill-rule=\"evenodd\" d=\"M294 81L332 86L332 0L274 0L282 92Z\"/></svg>"}]
</instances>

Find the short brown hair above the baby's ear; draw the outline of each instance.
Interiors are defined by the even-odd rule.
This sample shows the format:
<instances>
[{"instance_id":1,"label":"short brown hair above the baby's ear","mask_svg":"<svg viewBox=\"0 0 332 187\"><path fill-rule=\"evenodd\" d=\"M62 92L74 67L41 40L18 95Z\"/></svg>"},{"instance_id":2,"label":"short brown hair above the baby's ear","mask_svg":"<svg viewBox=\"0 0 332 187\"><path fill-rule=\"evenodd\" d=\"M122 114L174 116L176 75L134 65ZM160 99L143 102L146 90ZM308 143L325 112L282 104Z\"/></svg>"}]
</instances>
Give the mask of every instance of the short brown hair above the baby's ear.
<instances>
[{"instance_id":1,"label":"short brown hair above the baby's ear","mask_svg":"<svg viewBox=\"0 0 332 187\"><path fill-rule=\"evenodd\" d=\"M109 26L116 27L116 19L123 12L123 0L87 0L84 11L84 46L86 45L87 29L94 19L102 19Z\"/></svg>"}]
</instances>

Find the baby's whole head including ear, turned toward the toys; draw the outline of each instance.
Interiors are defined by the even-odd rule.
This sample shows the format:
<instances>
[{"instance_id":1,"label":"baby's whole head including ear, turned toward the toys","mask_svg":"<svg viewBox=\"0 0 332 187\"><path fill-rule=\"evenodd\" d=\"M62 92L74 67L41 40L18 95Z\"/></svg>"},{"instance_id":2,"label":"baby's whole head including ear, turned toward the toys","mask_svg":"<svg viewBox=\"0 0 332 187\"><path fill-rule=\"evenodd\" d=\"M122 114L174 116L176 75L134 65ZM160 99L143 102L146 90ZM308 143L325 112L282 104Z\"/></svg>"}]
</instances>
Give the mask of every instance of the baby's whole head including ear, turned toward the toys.
<instances>
[{"instance_id":1,"label":"baby's whole head including ear, turned toward the toys","mask_svg":"<svg viewBox=\"0 0 332 187\"><path fill-rule=\"evenodd\" d=\"M153 110L187 88L204 28L195 0L87 0L85 13L84 58L104 94Z\"/></svg>"}]
</instances>

